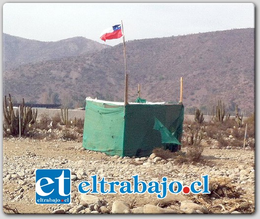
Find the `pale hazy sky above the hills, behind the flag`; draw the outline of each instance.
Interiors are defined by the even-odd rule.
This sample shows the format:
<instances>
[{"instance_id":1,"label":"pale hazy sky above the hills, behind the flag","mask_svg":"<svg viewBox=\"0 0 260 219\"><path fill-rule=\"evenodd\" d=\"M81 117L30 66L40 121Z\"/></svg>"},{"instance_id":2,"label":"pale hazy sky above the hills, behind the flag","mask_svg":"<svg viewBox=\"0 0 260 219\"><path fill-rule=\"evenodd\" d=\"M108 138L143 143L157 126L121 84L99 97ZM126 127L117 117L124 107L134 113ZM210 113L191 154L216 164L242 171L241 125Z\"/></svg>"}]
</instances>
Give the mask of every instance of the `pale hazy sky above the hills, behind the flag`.
<instances>
[{"instance_id":1,"label":"pale hazy sky above the hills, behind the flag","mask_svg":"<svg viewBox=\"0 0 260 219\"><path fill-rule=\"evenodd\" d=\"M5 3L3 32L40 41L99 39L123 21L125 39L255 27L253 3Z\"/></svg>"}]
</instances>

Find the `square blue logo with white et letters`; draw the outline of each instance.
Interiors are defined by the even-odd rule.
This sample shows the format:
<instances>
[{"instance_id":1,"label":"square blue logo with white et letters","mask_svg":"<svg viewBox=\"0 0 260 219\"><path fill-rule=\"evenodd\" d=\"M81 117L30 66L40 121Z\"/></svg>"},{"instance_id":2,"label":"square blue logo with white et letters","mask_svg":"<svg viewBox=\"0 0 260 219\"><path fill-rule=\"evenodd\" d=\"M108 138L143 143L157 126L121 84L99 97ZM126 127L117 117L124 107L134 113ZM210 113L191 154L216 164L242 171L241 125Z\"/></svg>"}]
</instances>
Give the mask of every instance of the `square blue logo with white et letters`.
<instances>
[{"instance_id":1,"label":"square blue logo with white et letters","mask_svg":"<svg viewBox=\"0 0 260 219\"><path fill-rule=\"evenodd\" d=\"M35 173L36 204L70 204L70 169L37 169Z\"/></svg>"}]
</instances>

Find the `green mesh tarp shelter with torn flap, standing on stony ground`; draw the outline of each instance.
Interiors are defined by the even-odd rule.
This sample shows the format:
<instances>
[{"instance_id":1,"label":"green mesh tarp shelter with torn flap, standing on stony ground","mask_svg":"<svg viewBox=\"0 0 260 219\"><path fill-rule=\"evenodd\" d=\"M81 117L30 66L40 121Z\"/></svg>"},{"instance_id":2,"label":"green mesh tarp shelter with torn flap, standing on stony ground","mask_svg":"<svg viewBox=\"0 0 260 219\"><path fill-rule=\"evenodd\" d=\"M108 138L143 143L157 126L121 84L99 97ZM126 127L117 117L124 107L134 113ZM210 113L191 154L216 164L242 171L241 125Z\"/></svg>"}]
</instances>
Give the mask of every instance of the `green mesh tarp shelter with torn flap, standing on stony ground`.
<instances>
[{"instance_id":1,"label":"green mesh tarp shelter with torn flap, standing on stony ground","mask_svg":"<svg viewBox=\"0 0 260 219\"><path fill-rule=\"evenodd\" d=\"M118 156L149 156L154 148L180 145L182 103L122 102L86 98L83 147Z\"/></svg>"}]
</instances>

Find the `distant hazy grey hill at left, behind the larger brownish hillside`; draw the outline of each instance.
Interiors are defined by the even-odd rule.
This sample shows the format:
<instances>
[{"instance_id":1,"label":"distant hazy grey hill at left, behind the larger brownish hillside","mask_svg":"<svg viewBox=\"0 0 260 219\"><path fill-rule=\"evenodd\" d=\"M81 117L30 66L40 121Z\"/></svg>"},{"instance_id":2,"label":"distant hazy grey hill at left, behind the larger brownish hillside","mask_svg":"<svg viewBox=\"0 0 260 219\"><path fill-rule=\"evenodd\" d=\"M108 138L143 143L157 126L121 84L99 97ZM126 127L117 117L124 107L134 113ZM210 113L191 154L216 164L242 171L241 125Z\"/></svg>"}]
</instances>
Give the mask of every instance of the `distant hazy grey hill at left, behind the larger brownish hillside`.
<instances>
[{"instance_id":1,"label":"distant hazy grey hill at left, behind the larger brownish hillside","mask_svg":"<svg viewBox=\"0 0 260 219\"><path fill-rule=\"evenodd\" d=\"M63 57L89 55L107 47L110 46L85 37L73 37L56 42L42 42L3 33L4 69Z\"/></svg>"}]
</instances>

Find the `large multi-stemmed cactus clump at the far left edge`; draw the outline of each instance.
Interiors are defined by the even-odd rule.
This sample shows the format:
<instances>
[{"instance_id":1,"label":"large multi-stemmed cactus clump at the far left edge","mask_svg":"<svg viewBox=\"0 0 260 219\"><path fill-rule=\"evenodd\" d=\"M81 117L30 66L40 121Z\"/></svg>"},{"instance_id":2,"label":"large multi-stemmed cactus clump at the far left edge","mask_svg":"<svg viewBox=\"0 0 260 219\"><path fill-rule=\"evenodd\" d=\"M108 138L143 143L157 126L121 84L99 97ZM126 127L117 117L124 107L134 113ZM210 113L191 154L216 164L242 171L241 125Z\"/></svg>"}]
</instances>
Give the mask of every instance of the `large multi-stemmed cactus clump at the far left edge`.
<instances>
[{"instance_id":1,"label":"large multi-stemmed cactus clump at the far left edge","mask_svg":"<svg viewBox=\"0 0 260 219\"><path fill-rule=\"evenodd\" d=\"M13 103L11 95L9 94L8 106L6 96L3 100L3 117L4 117L4 130L9 132L11 135L17 136L19 134L19 108L14 113ZM29 129L29 126L36 121L37 118L37 109L36 112L31 110L31 107L25 106L25 100L20 105L20 121L21 121L21 135L25 135Z\"/></svg>"}]
</instances>

